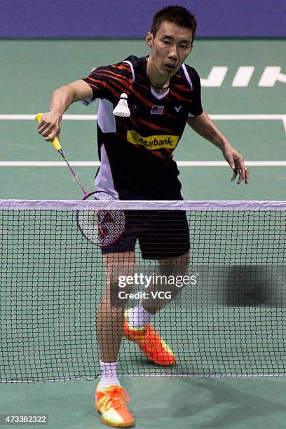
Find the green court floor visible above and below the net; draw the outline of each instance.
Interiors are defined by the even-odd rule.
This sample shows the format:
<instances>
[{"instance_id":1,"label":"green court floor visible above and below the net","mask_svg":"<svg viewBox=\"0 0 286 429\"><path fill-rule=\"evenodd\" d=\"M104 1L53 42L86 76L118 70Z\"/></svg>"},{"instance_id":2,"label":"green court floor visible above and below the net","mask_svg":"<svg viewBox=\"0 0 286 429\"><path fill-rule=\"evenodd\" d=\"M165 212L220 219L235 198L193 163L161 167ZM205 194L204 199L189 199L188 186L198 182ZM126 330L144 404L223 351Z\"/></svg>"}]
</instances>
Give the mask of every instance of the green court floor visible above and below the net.
<instances>
[{"instance_id":1,"label":"green court floor visible above and below the net","mask_svg":"<svg viewBox=\"0 0 286 429\"><path fill-rule=\"evenodd\" d=\"M58 86L85 77L99 65L148 53L144 41L0 41L6 65L0 78L0 198L81 198L67 168L39 164L62 159L37 134L32 116L48 109L50 94ZM207 81L203 107L211 116L222 115L214 122L245 157L251 181L247 186L230 182L231 170L213 164L224 161L218 149L186 128L175 151L177 161L194 163L179 167L185 199L286 200L285 83L280 77L273 86L261 86L261 76L267 70L269 76L273 73L267 67L281 67L281 74L286 73L285 57L282 40L196 41L188 63ZM219 86L210 78L214 67L227 67L224 79L222 69L215 72ZM233 86L240 67L254 67L252 77L249 82L242 79L244 86ZM77 103L67 113L95 115L97 105ZM70 161L98 161L95 119L63 121L61 142ZM12 164L15 161L18 165ZM29 161L38 165L27 165ZM92 191L96 167L74 168ZM286 428L283 377L161 376L121 381L130 394L138 429ZM2 384L0 414L48 414L50 428L104 428L93 408L95 384L84 380Z\"/></svg>"}]
</instances>

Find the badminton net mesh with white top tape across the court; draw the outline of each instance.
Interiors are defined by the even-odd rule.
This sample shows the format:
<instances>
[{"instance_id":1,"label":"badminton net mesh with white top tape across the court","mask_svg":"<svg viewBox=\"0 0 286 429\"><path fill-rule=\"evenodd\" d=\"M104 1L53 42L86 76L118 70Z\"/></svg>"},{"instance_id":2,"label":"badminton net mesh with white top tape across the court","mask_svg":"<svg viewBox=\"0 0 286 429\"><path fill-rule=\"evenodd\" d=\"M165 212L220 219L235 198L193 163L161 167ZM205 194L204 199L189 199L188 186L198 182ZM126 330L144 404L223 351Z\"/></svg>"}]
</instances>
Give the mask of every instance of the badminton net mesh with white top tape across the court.
<instances>
[{"instance_id":1,"label":"badminton net mesh with white top tape across the court","mask_svg":"<svg viewBox=\"0 0 286 429\"><path fill-rule=\"evenodd\" d=\"M135 265L114 257L111 307L147 305L144 293L161 292L149 300L161 306L151 325L176 357L154 365L124 338L119 376L285 375L285 202L0 200L2 382L100 376L95 320L108 279L101 248L76 222L77 210L100 209L132 212L137 229L126 233L139 236L143 256L163 257L144 259L138 241ZM189 261L168 259L186 245L178 213Z\"/></svg>"}]
</instances>

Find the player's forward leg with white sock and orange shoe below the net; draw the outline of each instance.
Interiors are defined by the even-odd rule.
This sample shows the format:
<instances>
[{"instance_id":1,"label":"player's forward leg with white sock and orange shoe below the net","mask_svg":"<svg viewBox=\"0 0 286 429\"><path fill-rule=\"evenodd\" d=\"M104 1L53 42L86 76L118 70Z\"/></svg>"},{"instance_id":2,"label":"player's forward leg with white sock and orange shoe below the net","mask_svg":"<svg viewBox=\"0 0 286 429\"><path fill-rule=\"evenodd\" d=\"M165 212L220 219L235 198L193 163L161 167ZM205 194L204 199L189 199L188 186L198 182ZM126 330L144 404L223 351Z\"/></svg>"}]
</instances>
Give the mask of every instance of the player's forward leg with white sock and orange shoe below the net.
<instances>
[{"instance_id":1,"label":"player's forward leg with white sock and orange shoe below the net","mask_svg":"<svg viewBox=\"0 0 286 429\"><path fill-rule=\"evenodd\" d=\"M101 379L97 386L95 406L102 414L104 423L128 428L134 424L134 419L125 406L124 400L128 395L120 386L117 374L125 306L125 300L118 299L118 280L121 275L134 273L135 252L105 254L104 264L107 271L107 289L97 310ZM129 292L128 287L125 287L124 292Z\"/></svg>"}]
</instances>

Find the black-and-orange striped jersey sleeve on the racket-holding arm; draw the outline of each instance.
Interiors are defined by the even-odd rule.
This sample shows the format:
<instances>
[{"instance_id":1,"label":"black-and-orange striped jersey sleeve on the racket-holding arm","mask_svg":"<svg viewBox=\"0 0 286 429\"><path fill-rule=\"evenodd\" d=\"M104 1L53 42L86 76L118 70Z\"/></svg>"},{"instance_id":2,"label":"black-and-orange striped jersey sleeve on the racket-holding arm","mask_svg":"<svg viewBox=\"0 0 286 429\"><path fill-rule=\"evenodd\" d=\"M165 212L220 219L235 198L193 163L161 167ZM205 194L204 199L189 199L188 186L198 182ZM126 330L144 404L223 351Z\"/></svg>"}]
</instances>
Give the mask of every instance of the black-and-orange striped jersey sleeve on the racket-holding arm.
<instances>
[{"instance_id":1,"label":"black-and-orange striped jersey sleeve on the racket-holding arm","mask_svg":"<svg viewBox=\"0 0 286 429\"><path fill-rule=\"evenodd\" d=\"M93 103L97 98L104 98L114 103L118 102L122 93L128 95L132 90L130 66L123 62L93 69L83 81L88 83L93 90L93 97L90 100L83 100L83 104L86 106Z\"/></svg>"}]
</instances>

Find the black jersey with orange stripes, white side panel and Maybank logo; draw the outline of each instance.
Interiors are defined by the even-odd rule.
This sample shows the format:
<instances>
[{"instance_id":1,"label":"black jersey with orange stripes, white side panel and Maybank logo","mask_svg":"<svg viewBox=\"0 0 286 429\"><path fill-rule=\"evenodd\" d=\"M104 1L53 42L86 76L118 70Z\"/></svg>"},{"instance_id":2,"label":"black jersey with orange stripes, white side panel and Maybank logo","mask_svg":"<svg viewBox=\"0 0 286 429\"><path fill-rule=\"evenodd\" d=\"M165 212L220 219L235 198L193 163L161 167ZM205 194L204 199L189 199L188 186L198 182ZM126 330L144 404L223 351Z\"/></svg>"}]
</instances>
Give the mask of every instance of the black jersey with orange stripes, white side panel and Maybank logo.
<instances>
[{"instance_id":1,"label":"black jersey with orange stripes, white side panel and Maybank logo","mask_svg":"<svg viewBox=\"0 0 286 429\"><path fill-rule=\"evenodd\" d=\"M188 117L203 113L196 70L182 64L161 95L149 83L147 57L98 67L83 80L93 89L84 104L100 99L95 189L121 200L182 200L172 152ZM122 93L128 95L128 118L112 113Z\"/></svg>"}]
</instances>

